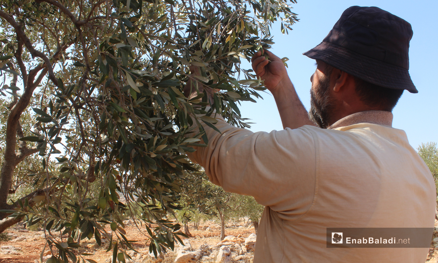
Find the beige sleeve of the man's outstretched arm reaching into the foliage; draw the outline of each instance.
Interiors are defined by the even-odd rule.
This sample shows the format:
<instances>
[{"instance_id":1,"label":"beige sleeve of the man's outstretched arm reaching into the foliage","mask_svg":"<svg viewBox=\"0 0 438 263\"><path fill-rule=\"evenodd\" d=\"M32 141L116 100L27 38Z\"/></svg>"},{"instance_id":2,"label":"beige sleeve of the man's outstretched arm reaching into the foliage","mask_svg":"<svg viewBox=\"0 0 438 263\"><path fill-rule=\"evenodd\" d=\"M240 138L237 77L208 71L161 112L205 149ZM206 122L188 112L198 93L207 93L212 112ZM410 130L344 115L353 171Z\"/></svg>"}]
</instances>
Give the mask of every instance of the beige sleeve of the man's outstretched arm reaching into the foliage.
<instances>
[{"instance_id":1,"label":"beige sleeve of the man's outstretched arm reaching into the foliage","mask_svg":"<svg viewBox=\"0 0 438 263\"><path fill-rule=\"evenodd\" d=\"M254 133L219 115L215 118L222 135L203 124L208 146L194 147L190 159L226 192L252 195L277 212L305 213L316 182L315 142L309 128Z\"/></svg>"}]
</instances>

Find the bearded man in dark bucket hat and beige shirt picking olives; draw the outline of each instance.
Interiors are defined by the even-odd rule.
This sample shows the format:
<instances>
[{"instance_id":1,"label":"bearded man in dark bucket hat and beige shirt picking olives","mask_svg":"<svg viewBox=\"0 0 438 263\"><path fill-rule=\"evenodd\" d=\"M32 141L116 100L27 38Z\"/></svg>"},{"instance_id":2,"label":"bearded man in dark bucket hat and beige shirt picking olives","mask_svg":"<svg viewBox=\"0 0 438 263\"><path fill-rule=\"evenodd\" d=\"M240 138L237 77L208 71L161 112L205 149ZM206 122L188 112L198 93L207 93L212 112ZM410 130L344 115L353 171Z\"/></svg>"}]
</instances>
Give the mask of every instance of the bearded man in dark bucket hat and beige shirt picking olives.
<instances>
[{"instance_id":1,"label":"bearded man in dark bucket hat and beige shirt picking olives","mask_svg":"<svg viewBox=\"0 0 438 263\"><path fill-rule=\"evenodd\" d=\"M236 128L217 117L208 147L191 159L216 185L265 206L254 263L424 263L428 248L327 248L329 227L433 227L435 185L392 108L409 76L408 22L377 7L350 7L324 41L311 110L300 102L282 61L253 58L272 92L282 131ZM310 118L309 118L310 117ZM319 127L315 127L315 125ZM429 241L430 242L430 241Z\"/></svg>"}]
</instances>

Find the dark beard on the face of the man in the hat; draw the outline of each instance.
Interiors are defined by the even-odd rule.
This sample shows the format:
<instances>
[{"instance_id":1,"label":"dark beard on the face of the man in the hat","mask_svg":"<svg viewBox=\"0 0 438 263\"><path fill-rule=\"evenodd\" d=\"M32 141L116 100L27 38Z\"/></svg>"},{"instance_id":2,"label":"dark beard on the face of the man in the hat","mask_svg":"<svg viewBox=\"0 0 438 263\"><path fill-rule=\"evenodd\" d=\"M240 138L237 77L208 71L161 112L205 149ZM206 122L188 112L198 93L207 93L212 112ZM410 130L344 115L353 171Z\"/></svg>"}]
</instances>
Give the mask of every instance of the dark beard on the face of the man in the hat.
<instances>
[{"instance_id":1,"label":"dark beard on the face of the man in the hat","mask_svg":"<svg viewBox=\"0 0 438 263\"><path fill-rule=\"evenodd\" d=\"M327 75L321 79L315 87L315 92L310 89L310 110L309 118L319 128L329 127L330 117L335 109L335 98L330 95L330 79Z\"/></svg>"}]
</instances>

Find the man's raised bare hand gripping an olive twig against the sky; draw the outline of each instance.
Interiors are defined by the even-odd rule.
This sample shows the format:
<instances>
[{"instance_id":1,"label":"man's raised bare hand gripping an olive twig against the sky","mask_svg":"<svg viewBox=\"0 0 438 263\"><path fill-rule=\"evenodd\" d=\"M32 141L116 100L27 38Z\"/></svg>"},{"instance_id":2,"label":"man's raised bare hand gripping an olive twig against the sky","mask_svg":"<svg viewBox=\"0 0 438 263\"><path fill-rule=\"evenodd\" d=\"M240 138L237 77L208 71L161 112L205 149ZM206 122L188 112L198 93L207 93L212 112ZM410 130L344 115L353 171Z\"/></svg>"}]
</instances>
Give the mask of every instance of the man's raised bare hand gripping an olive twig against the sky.
<instances>
[{"instance_id":1,"label":"man's raised bare hand gripping an olive twig against the sky","mask_svg":"<svg viewBox=\"0 0 438 263\"><path fill-rule=\"evenodd\" d=\"M289 79L289 77L287 76L283 61L272 52L268 50L265 50L265 52L268 54L271 62L261 55L261 51L257 51L254 57L252 57L252 69L257 77L265 81L265 87L269 91L274 92L282 86L281 82Z\"/></svg>"}]
</instances>

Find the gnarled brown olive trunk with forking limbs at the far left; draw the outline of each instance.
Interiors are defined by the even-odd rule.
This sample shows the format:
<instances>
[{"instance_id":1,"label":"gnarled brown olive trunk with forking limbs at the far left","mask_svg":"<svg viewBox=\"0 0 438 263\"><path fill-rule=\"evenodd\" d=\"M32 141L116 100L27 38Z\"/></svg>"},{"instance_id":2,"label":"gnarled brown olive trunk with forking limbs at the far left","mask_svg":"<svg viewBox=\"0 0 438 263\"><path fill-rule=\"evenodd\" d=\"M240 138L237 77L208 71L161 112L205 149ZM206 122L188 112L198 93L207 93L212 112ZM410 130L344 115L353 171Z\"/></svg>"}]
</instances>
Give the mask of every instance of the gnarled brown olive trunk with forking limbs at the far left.
<instances>
[{"instance_id":1,"label":"gnarled brown olive trunk with forking limbs at the far left","mask_svg":"<svg viewBox=\"0 0 438 263\"><path fill-rule=\"evenodd\" d=\"M0 171L0 210L14 210L14 208L18 206L18 203L16 202L14 204L8 204L7 200L11 190L15 167L17 167L18 163L23 161L25 157L39 151L39 149L36 149L36 147L28 148L26 142L24 141L17 142L18 139L24 137L24 133L21 129L20 117L29 106L33 92L46 74L49 72L49 79L55 83L55 85L57 85L57 78L53 73L53 65L51 64L51 61L44 53L35 50L34 46L32 46L32 42L23 31L22 25L15 21L13 16L7 14L3 10L0 10L0 17L6 20L14 28L17 39L20 41L18 48L14 53L14 57L17 60L18 67L20 68L24 87L21 96L19 98L18 96L14 96L13 101L8 106L11 111L9 112L6 121L4 158L3 163L1 163ZM52 61L56 61L70 45L58 47L58 50L53 53ZM32 69L27 69L23 63L23 60L21 59L24 46L28 52L31 53L32 57L40 57L45 63L38 64ZM8 65L12 70L14 70L14 65ZM16 84L17 75L14 74L11 80L11 85L15 86ZM14 93L16 94L16 91L14 91ZM42 196L45 196L49 192L49 190L38 190L22 197L21 200L24 201L27 198L29 201L28 205L32 207L36 202L45 199L42 198ZM6 213L0 213L0 233L20 221L21 218L15 219L13 217L7 217Z\"/></svg>"}]
</instances>

